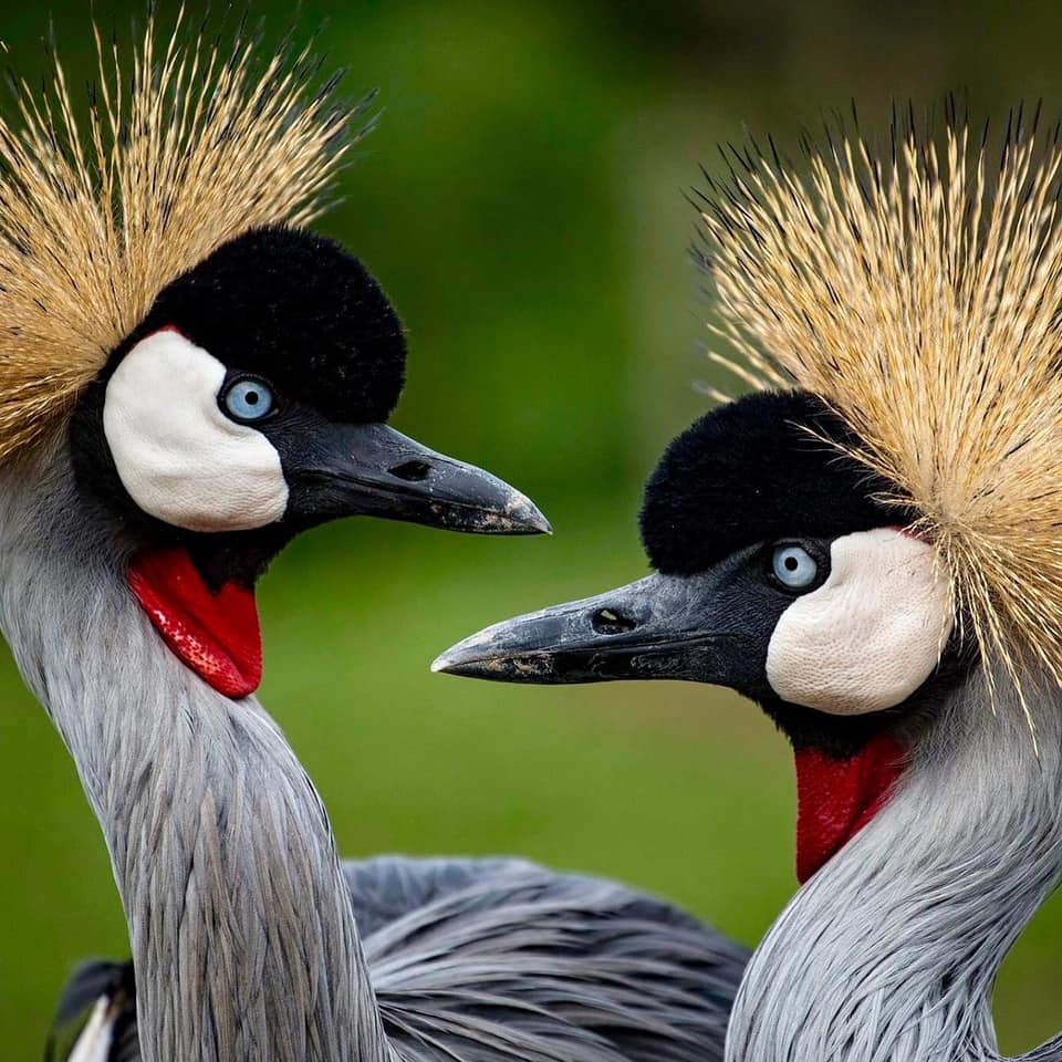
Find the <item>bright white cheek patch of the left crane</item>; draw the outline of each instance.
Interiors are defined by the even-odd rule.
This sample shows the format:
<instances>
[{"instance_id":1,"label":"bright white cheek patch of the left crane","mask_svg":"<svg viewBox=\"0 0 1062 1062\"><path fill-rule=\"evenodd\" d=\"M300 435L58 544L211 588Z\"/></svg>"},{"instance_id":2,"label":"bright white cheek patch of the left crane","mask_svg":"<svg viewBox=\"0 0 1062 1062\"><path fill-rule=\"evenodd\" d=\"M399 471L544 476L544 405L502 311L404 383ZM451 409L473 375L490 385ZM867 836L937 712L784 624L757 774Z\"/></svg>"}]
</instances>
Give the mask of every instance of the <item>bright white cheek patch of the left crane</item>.
<instances>
[{"instance_id":1,"label":"bright white cheek patch of the left crane","mask_svg":"<svg viewBox=\"0 0 1062 1062\"><path fill-rule=\"evenodd\" d=\"M178 332L156 332L107 383L103 430L145 512L190 531L246 531L288 506L280 455L218 407L225 366Z\"/></svg>"}]
</instances>

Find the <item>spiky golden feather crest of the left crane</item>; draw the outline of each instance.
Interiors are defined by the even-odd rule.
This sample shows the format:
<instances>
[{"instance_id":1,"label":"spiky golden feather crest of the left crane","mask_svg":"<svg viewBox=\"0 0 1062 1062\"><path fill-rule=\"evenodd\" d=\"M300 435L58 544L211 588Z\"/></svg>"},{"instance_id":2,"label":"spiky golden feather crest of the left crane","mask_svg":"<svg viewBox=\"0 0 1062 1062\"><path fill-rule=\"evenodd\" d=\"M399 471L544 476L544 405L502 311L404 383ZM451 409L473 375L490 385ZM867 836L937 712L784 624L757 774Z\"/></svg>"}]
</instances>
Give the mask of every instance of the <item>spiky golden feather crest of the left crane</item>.
<instances>
[{"instance_id":1,"label":"spiky golden feather crest of the left crane","mask_svg":"<svg viewBox=\"0 0 1062 1062\"><path fill-rule=\"evenodd\" d=\"M323 206L358 107L314 92L306 52L259 67L253 37L168 43L150 15L128 63L96 28L80 123L63 67L14 82L0 117L0 460L67 414L158 293L257 226Z\"/></svg>"}]
</instances>

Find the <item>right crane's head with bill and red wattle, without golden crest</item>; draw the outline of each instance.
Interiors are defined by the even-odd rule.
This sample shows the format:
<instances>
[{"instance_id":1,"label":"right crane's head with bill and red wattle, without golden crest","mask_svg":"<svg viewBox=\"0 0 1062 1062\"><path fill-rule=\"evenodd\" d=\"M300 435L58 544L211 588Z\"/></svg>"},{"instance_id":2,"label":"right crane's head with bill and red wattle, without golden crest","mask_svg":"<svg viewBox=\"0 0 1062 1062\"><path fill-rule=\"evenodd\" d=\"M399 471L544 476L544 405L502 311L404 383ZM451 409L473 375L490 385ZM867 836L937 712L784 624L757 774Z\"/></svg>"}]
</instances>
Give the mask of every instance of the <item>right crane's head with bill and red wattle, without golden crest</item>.
<instances>
[{"instance_id":1,"label":"right crane's head with bill and red wattle, without golden crest","mask_svg":"<svg viewBox=\"0 0 1062 1062\"><path fill-rule=\"evenodd\" d=\"M802 787L829 775L843 796L829 836L810 816L806 877L895 779L905 723L970 665L918 513L851 456L856 445L806 392L709 413L646 488L654 574L488 627L434 668L540 684L683 679L758 701L792 741Z\"/></svg>"}]
</instances>

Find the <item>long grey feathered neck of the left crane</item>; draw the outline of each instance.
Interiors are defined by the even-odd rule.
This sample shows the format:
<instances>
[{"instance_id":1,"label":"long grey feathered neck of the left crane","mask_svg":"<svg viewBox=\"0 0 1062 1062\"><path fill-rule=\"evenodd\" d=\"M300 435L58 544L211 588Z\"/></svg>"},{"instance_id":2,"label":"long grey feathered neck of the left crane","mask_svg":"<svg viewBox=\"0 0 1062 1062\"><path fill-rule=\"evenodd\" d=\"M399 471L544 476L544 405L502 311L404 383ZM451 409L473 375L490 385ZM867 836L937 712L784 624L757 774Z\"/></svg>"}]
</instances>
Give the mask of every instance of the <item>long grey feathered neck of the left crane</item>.
<instances>
[{"instance_id":1,"label":"long grey feathered neck of the left crane","mask_svg":"<svg viewBox=\"0 0 1062 1062\"><path fill-rule=\"evenodd\" d=\"M0 625L106 837L145 1062L388 1059L329 820L283 735L165 648L62 449L0 473Z\"/></svg>"}]
</instances>

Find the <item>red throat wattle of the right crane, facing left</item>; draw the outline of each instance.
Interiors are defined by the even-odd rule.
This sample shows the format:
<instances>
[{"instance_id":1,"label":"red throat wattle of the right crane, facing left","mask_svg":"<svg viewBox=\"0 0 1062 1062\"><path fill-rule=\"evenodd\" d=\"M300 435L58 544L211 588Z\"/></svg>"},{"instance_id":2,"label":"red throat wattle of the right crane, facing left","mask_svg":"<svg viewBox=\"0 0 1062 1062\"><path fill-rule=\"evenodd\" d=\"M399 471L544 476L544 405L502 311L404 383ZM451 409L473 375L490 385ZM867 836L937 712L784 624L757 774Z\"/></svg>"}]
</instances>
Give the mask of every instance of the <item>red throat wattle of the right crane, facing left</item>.
<instances>
[{"instance_id":1,"label":"red throat wattle of the right crane, facing left","mask_svg":"<svg viewBox=\"0 0 1062 1062\"><path fill-rule=\"evenodd\" d=\"M904 767L904 747L887 733L851 759L803 749L796 760L796 877L808 881L888 800Z\"/></svg>"}]
</instances>

